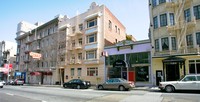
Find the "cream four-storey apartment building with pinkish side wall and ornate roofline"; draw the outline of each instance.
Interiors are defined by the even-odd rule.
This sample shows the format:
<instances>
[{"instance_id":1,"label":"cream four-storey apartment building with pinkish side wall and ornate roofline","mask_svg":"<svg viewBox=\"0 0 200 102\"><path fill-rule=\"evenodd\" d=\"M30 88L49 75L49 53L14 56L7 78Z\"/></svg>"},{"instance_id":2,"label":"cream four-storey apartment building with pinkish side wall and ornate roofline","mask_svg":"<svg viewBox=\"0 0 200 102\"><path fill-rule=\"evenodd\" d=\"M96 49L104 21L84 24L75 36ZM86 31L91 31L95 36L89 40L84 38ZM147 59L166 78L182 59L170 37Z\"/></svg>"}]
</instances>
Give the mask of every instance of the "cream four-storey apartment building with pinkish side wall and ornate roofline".
<instances>
[{"instance_id":1,"label":"cream four-storey apartment building with pinkish side wall and ornate roofline","mask_svg":"<svg viewBox=\"0 0 200 102\"><path fill-rule=\"evenodd\" d=\"M59 71L62 81L84 79L97 84L105 80L104 46L126 39L126 29L105 5L92 3L73 18L60 19Z\"/></svg>"}]
</instances>

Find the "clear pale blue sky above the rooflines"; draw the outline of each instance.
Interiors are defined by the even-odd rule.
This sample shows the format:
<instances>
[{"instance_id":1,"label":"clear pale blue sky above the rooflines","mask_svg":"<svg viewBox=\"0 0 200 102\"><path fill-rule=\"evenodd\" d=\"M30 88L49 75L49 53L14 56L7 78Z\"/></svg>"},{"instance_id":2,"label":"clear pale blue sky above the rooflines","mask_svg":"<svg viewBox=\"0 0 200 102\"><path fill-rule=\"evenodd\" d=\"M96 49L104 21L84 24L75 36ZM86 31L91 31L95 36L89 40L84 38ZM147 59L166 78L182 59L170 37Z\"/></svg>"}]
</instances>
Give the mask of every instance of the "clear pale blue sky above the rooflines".
<instances>
[{"instance_id":1,"label":"clear pale blue sky above the rooflines","mask_svg":"<svg viewBox=\"0 0 200 102\"><path fill-rule=\"evenodd\" d=\"M0 0L0 41L15 42L20 21L45 23L58 14L73 17L92 2L106 5L137 40L148 39L148 0Z\"/></svg>"}]
</instances>

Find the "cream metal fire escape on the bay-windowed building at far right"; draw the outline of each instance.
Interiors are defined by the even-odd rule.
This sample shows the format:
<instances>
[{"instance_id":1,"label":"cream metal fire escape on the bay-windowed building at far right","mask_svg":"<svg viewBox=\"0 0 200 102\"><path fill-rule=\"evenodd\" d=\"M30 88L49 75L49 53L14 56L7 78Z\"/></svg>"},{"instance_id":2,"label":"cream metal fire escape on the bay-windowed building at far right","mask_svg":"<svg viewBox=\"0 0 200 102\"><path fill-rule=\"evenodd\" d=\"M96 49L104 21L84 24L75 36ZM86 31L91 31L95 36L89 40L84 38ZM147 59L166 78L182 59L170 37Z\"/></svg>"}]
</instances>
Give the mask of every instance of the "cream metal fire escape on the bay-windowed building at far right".
<instances>
[{"instance_id":1,"label":"cream metal fire escape on the bay-windowed building at far right","mask_svg":"<svg viewBox=\"0 0 200 102\"><path fill-rule=\"evenodd\" d=\"M192 1L193 0L172 0L170 3L167 3L168 8L172 7L175 12L175 24L168 27L168 32L177 38L177 50L176 52L170 52L170 54L196 53L198 50L197 47L187 46L186 41L187 31L193 30L196 25L196 20L192 13L190 13L188 17L185 17L184 14L184 8L190 8Z\"/></svg>"}]
</instances>

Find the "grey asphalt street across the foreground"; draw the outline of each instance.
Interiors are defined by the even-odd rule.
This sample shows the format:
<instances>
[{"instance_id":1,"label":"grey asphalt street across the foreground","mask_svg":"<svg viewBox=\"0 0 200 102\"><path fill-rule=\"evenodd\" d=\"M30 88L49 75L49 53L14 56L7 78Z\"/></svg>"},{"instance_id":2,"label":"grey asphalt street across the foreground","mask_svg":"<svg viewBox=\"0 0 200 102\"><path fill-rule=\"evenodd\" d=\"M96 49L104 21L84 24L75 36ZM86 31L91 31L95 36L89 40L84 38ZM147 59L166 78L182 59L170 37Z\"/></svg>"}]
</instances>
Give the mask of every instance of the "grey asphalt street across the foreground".
<instances>
[{"instance_id":1,"label":"grey asphalt street across the foreground","mask_svg":"<svg viewBox=\"0 0 200 102\"><path fill-rule=\"evenodd\" d=\"M0 102L200 102L200 94L7 85L0 89Z\"/></svg>"}]
</instances>

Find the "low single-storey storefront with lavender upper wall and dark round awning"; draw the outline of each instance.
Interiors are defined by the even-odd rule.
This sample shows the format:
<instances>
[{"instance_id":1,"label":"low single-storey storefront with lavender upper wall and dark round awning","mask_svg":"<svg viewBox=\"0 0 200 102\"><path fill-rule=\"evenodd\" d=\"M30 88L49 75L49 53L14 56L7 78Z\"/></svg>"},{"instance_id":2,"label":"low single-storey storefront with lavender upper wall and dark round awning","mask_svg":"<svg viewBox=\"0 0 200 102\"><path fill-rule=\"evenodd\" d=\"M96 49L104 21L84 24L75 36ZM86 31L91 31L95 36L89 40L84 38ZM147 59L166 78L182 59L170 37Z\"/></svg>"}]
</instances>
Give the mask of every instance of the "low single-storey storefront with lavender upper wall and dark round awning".
<instances>
[{"instance_id":1,"label":"low single-storey storefront with lavender upper wall and dark round awning","mask_svg":"<svg viewBox=\"0 0 200 102\"><path fill-rule=\"evenodd\" d=\"M151 45L149 40L121 41L105 47L106 78L124 78L134 81L136 86L152 85Z\"/></svg>"}]
</instances>

